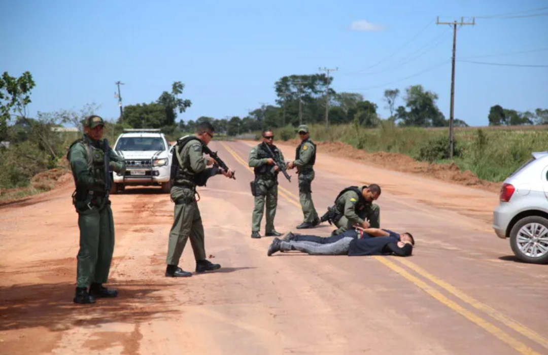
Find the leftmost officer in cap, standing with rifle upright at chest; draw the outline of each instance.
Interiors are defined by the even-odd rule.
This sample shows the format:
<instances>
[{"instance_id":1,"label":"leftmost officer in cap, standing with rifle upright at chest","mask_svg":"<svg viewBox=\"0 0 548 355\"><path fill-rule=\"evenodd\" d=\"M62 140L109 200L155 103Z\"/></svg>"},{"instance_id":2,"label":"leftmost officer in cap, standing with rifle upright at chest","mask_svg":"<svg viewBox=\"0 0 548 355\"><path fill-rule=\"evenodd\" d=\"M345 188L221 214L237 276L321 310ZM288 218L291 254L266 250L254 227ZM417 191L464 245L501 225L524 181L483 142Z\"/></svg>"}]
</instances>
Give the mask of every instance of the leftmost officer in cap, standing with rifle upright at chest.
<instances>
[{"instance_id":1,"label":"leftmost officer in cap, standing with rifle upright at chest","mask_svg":"<svg viewBox=\"0 0 548 355\"><path fill-rule=\"evenodd\" d=\"M76 185L73 203L80 229L77 287L73 299L78 304L93 303L96 297L118 296L118 291L102 286L109 277L114 251L114 220L105 184L105 141L101 140L104 126L101 117L87 117L83 138L75 141L67 154ZM112 149L109 161L111 170L124 173L124 159Z\"/></svg>"}]
</instances>

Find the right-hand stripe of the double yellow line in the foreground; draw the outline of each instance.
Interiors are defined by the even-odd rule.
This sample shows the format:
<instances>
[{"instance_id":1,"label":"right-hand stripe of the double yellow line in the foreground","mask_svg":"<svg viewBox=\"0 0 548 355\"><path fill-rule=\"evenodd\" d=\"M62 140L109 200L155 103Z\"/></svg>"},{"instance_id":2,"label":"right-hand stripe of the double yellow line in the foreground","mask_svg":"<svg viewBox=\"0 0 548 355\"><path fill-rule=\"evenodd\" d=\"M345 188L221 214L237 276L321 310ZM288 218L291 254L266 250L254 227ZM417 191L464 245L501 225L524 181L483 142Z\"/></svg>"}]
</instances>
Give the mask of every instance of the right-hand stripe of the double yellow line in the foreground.
<instances>
[{"instance_id":1,"label":"right-hand stripe of the double yellow line in the foreground","mask_svg":"<svg viewBox=\"0 0 548 355\"><path fill-rule=\"evenodd\" d=\"M411 261L404 260L404 259L397 259L401 264L406 265L411 270L414 270L416 273L420 274L426 279L429 279L431 282L435 283L439 287L447 290L449 293L455 295L459 299L463 300L467 304L471 305L472 307L477 308L480 311L483 311L487 313L489 316L495 318L499 322L507 325L507 327L512 328L513 330L517 331L518 333L528 337L529 339L538 342L540 345L544 346L545 348L548 348L548 340L541 336L538 333L535 333L535 331L527 328L525 325L520 324L516 322L515 320L506 317L504 314L496 311L494 308L489 307L486 304L483 304L482 302L479 302L478 300L472 298L471 296L465 294L463 291L457 289L453 285L444 282L443 280L433 276L431 273L427 272L420 266L414 264Z\"/></svg>"}]
</instances>

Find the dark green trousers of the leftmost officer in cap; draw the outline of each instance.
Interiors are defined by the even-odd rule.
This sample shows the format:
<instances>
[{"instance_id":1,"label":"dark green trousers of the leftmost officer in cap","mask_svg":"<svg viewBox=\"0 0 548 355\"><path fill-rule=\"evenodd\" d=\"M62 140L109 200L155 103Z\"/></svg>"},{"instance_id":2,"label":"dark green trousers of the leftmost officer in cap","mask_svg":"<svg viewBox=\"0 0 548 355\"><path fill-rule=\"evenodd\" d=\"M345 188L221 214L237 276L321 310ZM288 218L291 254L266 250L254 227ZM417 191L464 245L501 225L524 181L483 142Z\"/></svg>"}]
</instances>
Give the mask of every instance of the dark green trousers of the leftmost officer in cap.
<instances>
[{"instance_id":1,"label":"dark green trousers of the leftmost officer in cap","mask_svg":"<svg viewBox=\"0 0 548 355\"><path fill-rule=\"evenodd\" d=\"M106 283L114 251L114 220L110 204L78 213L80 250L78 251L78 287Z\"/></svg>"}]
</instances>

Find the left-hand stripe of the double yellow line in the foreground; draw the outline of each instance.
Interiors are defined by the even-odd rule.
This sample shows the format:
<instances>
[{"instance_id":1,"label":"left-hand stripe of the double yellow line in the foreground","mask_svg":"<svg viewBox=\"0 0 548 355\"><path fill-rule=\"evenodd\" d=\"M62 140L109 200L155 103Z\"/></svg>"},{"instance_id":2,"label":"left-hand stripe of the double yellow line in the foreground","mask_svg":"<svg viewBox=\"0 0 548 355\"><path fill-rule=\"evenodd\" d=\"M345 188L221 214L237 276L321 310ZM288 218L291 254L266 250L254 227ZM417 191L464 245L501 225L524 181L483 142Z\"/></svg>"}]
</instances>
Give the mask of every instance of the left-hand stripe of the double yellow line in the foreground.
<instances>
[{"instance_id":1,"label":"left-hand stripe of the double yellow line in the foreground","mask_svg":"<svg viewBox=\"0 0 548 355\"><path fill-rule=\"evenodd\" d=\"M476 314L466 310L463 306L460 306L456 302L449 300L446 296L442 295L438 290L427 285L423 280L413 276L402 267L397 266L392 261L388 260L386 256L373 256L376 260L382 262L387 267L391 268L393 271L397 272L404 278L408 279L410 282L414 283L419 288L423 289L427 294L432 296L437 301L441 302L443 305L451 308L453 311L461 314L465 318L471 320L473 323L479 325L483 329L487 330L489 333L496 336L499 340L504 341L515 350L519 351L524 355L540 355L538 352L534 351L532 348L528 347L521 341L513 338L510 334L506 333L504 330L496 327L495 325L487 322L487 320L476 316Z\"/></svg>"}]
</instances>

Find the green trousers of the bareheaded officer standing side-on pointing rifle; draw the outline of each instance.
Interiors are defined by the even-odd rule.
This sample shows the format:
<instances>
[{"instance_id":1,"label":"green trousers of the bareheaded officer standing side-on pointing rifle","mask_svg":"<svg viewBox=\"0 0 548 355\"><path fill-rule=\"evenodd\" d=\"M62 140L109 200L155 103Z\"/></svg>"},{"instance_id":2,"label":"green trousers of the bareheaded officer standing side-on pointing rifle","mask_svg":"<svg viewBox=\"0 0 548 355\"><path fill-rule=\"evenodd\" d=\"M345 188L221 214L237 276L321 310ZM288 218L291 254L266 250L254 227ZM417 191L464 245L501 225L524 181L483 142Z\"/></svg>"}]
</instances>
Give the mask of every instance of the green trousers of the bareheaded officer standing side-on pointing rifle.
<instances>
[{"instance_id":1,"label":"green trousers of the bareheaded officer standing side-on pointing rifle","mask_svg":"<svg viewBox=\"0 0 548 355\"><path fill-rule=\"evenodd\" d=\"M175 201L175 207L173 225L169 231L168 255L165 263L167 265L179 265L182 251L185 250L189 236L194 259L196 261L205 260L204 226L198 203L194 199L194 191L191 188L174 186L171 196L172 200Z\"/></svg>"}]
</instances>

